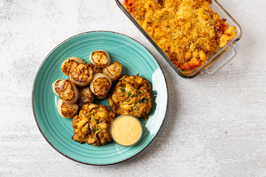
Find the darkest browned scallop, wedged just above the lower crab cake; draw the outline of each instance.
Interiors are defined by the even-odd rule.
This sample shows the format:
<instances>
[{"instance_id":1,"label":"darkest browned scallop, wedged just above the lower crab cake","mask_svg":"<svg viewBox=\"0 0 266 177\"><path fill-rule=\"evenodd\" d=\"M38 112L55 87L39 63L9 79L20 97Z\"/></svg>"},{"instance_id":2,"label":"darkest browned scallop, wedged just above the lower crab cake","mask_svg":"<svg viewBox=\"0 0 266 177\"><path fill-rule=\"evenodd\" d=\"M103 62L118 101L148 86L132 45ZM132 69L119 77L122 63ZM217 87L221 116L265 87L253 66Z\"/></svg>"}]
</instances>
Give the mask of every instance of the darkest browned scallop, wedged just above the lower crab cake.
<instances>
[{"instance_id":1,"label":"darkest browned scallop, wedged just above the lower crab cake","mask_svg":"<svg viewBox=\"0 0 266 177\"><path fill-rule=\"evenodd\" d=\"M89 86L78 87L78 99L77 103L79 107L82 107L84 104L92 103L94 101L94 94L90 90Z\"/></svg>"}]
</instances>

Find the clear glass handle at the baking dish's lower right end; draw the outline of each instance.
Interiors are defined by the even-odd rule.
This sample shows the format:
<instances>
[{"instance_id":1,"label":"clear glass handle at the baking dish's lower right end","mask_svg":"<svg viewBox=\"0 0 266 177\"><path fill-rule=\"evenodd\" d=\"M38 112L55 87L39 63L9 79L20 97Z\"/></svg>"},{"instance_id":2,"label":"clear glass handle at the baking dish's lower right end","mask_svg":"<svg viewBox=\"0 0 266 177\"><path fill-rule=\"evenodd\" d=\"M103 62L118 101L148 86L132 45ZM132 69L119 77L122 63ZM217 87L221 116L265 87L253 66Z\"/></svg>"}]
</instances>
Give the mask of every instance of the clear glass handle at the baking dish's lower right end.
<instances>
[{"instance_id":1,"label":"clear glass handle at the baking dish's lower right end","mask_svg":"<svg viewBox=\"0 0 266 177\"><path fill-rule=\"evenodd\" d=\"M213 62L210 66L202 71L202 74L212 76L222 67L224 67L230 60L232 60L237 55L236 43L234 42L230 49L224 53L219 59Z\"/></svg>"}]
</instances>

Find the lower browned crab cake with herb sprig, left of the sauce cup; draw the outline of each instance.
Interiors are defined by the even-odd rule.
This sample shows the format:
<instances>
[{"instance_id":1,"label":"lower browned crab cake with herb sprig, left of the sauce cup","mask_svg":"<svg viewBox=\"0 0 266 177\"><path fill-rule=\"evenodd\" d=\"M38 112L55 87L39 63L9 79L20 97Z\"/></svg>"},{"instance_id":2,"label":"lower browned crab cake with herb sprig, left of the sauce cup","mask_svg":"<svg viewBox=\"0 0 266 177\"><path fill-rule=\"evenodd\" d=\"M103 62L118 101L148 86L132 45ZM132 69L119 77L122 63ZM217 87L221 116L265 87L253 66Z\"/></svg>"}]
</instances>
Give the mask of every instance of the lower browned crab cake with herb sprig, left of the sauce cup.
<instances>
[{"instance_id":1,"label":"lower browned crab cake with herb sprig, left of the sauce cup","mask_svg":"<svg viewBox=\"0 0 266 177\"><path fill-rule=\"evenodd\" d=\"M104 145L112 140L110 128L115 114L106 105L85 104L73 118L72 139L81 144Z\"/></svg>"}]
</instances>

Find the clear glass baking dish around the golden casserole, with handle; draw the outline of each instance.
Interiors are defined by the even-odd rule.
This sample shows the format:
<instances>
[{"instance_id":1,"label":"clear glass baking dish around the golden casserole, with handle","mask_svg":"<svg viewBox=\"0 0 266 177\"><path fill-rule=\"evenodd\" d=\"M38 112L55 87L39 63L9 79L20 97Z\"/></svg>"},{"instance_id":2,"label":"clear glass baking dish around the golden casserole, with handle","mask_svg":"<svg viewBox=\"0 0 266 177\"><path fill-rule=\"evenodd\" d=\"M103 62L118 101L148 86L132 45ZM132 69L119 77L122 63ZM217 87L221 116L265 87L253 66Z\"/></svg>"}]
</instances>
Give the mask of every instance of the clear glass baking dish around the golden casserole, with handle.
<instances>
[{"instance_id":1,"label":"clear glass baking dish around the golden casserole, with handle","mask_svg":"<svg viewBox=\"0 0 266 177\"><path fill-rule=\"evenodd\" d=\"M213 3L210 7L219 13L220 18L226 18L226 22L229 26L236 26L237 35L230 41L227 42L227 45L219 48L217 52L211 55L207 62L198 69L195 69L191 73L183 73L180 71L168 58L168 56L161 50L161 48L155 43L155 41L147 34L147 32L140 26L140 24L134 19L134 17L128 12L124 6L124 0L116 0L117 5L121 10L127 15L127 17L137 26L137 28L144 34L144 36L152 43L152 45L161 53L164 59L170 64L170 66L176 71L178 75L184 78L193 78L199 75L200 73L206 75L214 75L219 71L223 66L225 66L230 60L232 60L237 55L236 43L240 40L242 36L242 29L239 23L221 6L216 0L212 0Z\"/></svg>"}]
</instances>

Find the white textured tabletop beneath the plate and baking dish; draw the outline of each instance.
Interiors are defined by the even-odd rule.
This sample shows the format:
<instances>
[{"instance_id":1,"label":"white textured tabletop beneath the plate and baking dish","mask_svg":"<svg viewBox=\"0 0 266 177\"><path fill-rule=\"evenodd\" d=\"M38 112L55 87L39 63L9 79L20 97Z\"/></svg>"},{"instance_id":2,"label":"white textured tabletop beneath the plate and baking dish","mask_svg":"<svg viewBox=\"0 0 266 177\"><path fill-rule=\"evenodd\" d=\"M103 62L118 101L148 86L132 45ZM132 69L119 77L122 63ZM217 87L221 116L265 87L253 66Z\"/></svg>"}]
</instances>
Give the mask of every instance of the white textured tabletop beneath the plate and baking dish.
<instances>
[{"instance_id":1,"label":"white textured tabletop beneath the plate and baking dish","mask_svg":"<svg viewBox=\"0 0 266 177\"><path fill-rule=\"evenodd\" d=\"M266 176L266 1L220 0L243 29L237 56L212 77L183 79L115 0L0 0L0 176ZM91 30L135 38L169 88L162 130L143 152L88 166L56 152L31 108L35 74L61 41Z\"/></svg>"}]
</instances>

